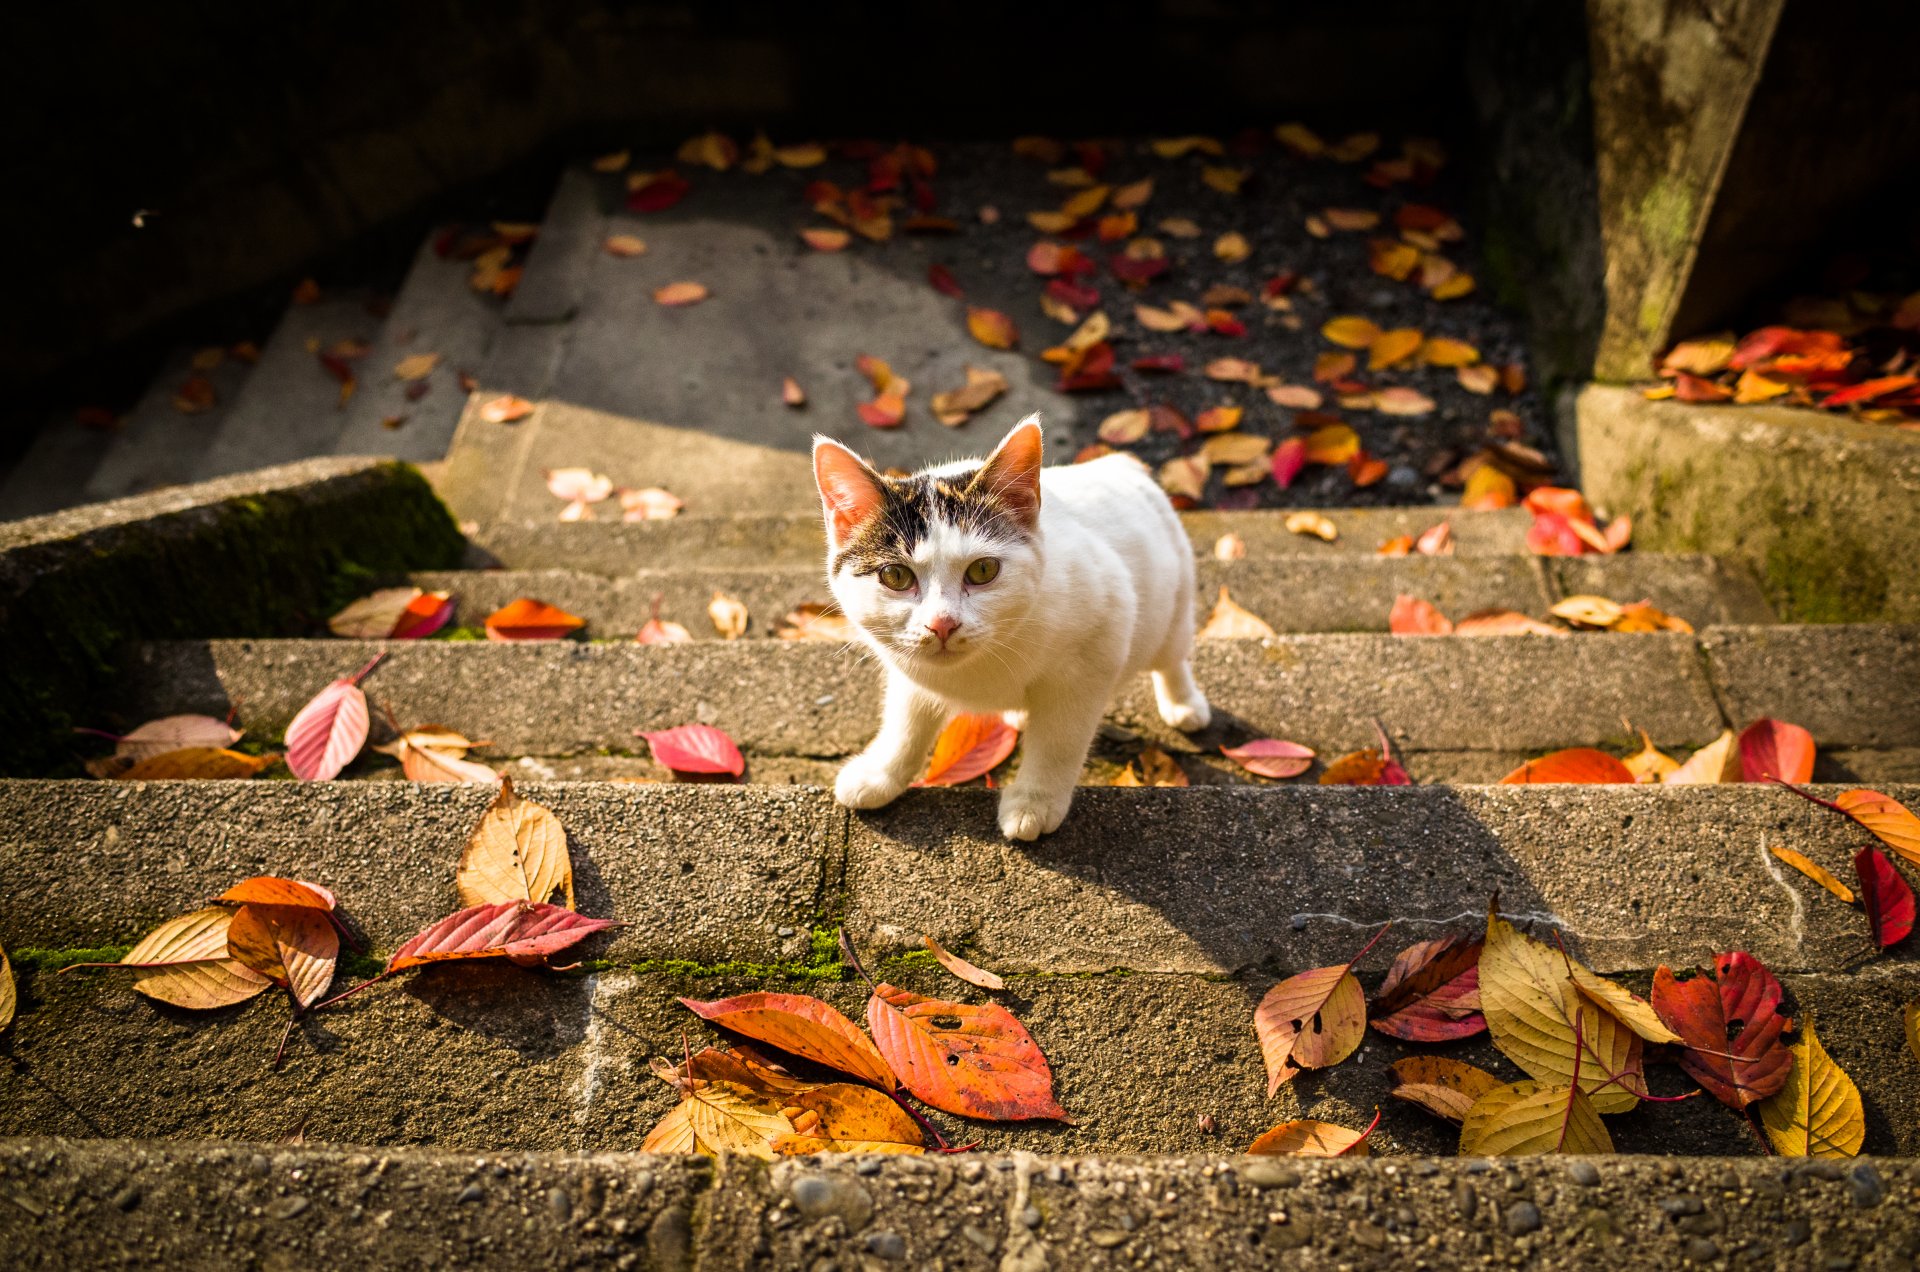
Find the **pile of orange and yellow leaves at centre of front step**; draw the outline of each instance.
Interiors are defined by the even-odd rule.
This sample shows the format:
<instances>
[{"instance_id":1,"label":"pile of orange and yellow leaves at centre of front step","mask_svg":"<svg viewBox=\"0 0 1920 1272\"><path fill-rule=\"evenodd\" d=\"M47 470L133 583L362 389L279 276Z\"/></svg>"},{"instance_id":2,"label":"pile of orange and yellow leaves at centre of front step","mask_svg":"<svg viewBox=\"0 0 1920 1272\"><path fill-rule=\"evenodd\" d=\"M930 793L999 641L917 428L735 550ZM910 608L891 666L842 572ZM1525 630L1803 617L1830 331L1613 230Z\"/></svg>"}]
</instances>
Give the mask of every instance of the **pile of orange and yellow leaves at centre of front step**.
<instances>
[{"instance_id":1,"label":"pile of orange and yellow leaves at centre of front step","mask_svg":"<svg viewBox=\"0 0 1920 1272\"><path fill-rule=\"evenodd\" d=\"M1004 982L948 953L927 949L950 972L983 990ZM989 1122L1069 1120L1054 1099L1054 1074L1027 1028L998 1003L933 999L866 976L841 934L841 953L868 982L866 1030L831 1003L804 993L755 991L680 1003L699 1018L751 1040L733 1051L708 1047L653 1072L680 1103L647 1134L647 1153L956 1151L910 1103ZM758 1045L781 1059L764 1055ZM803 1078L804 1063L835 1078Z\"/></svg>"}]
</instances>

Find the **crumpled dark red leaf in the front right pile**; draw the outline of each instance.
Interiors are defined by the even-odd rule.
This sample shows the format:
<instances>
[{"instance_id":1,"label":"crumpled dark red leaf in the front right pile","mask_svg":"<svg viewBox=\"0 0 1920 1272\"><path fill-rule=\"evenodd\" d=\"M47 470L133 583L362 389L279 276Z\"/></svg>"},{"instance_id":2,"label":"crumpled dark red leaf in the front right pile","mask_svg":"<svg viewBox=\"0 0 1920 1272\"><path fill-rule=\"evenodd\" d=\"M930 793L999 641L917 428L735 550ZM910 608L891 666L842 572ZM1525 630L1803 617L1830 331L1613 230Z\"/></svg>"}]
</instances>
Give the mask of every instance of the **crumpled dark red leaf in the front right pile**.
<instances>
[{"instance_id":1,"label":"crumpled dark red leaf in the front right pile","mask_svg":"<svg viewBox=\"0 0 1920 1272\"><path fill-rule=\"evenodd\" d=\"M1730 1109L1786 1086L1793 1053L1780 1034L1780 982L1745 951L1715 955L1713 976L1676 980L1663 965L1647 995L1661 1024L1686 1040L1680 1068Z\"/></svg>"}]
</instances>

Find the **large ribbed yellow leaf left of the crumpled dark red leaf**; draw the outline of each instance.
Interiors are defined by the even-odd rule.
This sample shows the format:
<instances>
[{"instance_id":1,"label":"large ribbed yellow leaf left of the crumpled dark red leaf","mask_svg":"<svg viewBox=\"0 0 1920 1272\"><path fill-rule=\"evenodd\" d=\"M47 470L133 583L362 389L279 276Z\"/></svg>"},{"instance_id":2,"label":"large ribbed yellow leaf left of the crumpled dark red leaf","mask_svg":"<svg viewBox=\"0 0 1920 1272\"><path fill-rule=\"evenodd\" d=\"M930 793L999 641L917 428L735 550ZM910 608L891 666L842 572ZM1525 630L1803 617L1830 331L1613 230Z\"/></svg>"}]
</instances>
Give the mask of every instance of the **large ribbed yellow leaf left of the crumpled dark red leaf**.
<instances>
[{"instance_id":1,"label":"large ribbed yellow leaf left of the crumpled dark red leaf","mask_svg":"<svg viewBox=\"0 0 1920 1272\"><path fill-rule=\"evenodd\" d=\"M1538 1082L1578 1082L1599 1113L1626 1113L1640 1103L1640 1036L1611 1013L1592 1007L1574 990L1574 976L1599 980L1565 951L1521 934L1498 913L1486 917L1480 1011L1494 1045Z\"/></svg>"}]
</instances>

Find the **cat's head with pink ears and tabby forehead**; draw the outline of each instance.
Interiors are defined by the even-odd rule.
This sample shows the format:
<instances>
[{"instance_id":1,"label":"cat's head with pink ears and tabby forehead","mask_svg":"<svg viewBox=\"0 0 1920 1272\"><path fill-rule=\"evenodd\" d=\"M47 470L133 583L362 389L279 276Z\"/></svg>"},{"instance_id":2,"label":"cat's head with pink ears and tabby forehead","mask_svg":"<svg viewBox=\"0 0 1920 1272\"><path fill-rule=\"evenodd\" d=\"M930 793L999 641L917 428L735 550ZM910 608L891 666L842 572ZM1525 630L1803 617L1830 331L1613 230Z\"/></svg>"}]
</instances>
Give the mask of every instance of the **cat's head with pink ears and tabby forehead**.
<instances>
[{"instance_id":1,"label":"cat's head with pink ears and tabby forehead","mask_svg":"<svg viewBox=\"0 0 1920 1272\"><path fill-rule=\"evenodd\" d=\"M1041 425L1020 421L985 461L883 477L814 438L828 582L906 669L958 667L1018 638L1041 588Z\"/></svg>"}]
</instances>

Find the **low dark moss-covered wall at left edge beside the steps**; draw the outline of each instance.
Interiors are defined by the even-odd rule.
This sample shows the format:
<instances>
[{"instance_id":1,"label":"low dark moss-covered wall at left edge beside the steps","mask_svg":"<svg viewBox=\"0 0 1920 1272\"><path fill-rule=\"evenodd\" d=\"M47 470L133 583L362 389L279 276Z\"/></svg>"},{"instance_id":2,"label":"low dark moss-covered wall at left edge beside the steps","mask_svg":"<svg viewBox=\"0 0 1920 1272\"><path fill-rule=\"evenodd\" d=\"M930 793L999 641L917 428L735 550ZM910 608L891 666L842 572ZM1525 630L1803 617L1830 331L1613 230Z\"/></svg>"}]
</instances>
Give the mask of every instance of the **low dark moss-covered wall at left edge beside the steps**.
<instances>
[{"instance_id":1,"label":"low dark moss-covered wall at left edge beside the steps","mask_svg":"<svg viewBox=\"0 0 1920 1272\"><path fill-rule=\"evenodd\" d=\"M417 469L378 463L186 509L56 530L0 557L0 772L71 765L134 640L290 636L465 540Z\"/></svg>"}]
</instances>

